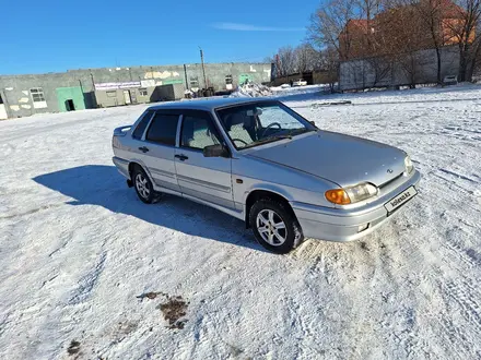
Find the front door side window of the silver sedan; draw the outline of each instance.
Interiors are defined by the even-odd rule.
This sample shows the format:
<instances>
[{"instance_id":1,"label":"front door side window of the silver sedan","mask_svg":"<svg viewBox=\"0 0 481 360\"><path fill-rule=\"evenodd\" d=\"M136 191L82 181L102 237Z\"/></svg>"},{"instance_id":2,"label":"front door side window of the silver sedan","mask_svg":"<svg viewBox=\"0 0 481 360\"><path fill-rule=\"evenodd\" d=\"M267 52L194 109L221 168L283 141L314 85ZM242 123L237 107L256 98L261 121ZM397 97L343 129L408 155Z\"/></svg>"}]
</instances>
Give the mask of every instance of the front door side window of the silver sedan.
<instances>
[{"instance_id":1,"label":"front door side window of the silver sedan","mask_svg":"<svg viewBox=\"0 0 481 360\"><path fill-rule=\"evenodd\" d=\"M203 149L221 143L221 136L208 113L185 115L180 131L180 146Z\"/></svg>"}]
</instances>

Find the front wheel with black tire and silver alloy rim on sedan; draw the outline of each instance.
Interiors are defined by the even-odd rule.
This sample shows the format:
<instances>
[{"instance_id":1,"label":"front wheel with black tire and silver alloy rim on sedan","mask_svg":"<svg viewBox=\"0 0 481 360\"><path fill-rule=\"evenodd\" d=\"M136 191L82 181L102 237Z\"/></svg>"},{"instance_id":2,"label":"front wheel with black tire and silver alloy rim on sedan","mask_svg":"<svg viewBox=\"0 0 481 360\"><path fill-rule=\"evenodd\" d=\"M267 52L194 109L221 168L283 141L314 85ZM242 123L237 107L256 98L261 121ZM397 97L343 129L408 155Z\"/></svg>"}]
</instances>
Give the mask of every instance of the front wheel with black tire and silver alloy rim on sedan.
<instances>
[{"instance_id":1,"label":"front wheel with black tire and silver alloy rim on sedan","mask_svg":"<svg viewBox=\"0 0 481 360\"><path fill-rule=\"evenodd\" d=\"M295 215L278 201L261 199L249 212L249 225L256 240L267 250L286 254L296 248L304 236Z\"/></svg>"}]
</instances>

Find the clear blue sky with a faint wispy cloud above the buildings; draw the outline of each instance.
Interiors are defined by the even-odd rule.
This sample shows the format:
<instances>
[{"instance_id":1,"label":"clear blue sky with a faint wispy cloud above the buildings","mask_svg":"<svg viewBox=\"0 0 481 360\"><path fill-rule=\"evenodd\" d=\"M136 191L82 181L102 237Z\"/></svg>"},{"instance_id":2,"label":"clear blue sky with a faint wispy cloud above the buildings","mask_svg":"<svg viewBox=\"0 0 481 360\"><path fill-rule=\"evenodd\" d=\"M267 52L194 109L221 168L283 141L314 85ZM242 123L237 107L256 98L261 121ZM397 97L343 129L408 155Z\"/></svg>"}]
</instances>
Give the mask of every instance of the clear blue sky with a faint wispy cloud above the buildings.
<instances>
[{"instance_id":1,"label":"clear blue sky with a faint wispy cloud above the buildings","mask_svg":"<svg viewBox=\"0 0 481 360\"><path fill-rule=\"evenodd\" d=\"M319 0L5 0L0 74L262 61L306 36Z\"/></svg>"}]
</instances>

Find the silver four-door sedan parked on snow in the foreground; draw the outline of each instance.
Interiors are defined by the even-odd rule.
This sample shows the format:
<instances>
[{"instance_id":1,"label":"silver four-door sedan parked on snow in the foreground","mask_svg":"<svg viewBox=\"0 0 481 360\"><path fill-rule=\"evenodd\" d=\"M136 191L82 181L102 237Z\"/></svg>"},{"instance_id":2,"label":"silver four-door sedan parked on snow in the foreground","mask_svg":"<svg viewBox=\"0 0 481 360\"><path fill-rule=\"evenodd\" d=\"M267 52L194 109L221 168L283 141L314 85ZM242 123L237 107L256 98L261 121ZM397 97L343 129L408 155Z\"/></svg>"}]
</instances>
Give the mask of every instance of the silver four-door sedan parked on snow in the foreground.
<instances>
[{"instance_id":1,"label":"silver four-door sedan parked on snow in the foreground","mask_svg":"<svg viewBox=\"0 0 481 360\"><path fill-rule=\"evenodd\" d=\"M116 129L113 147L142 202L164 192L212 206L275 253L304 237L369 233L414 197L420 180L401 149L319 130L272 99L154 106Z\"/></svg>"}]
</instances>

